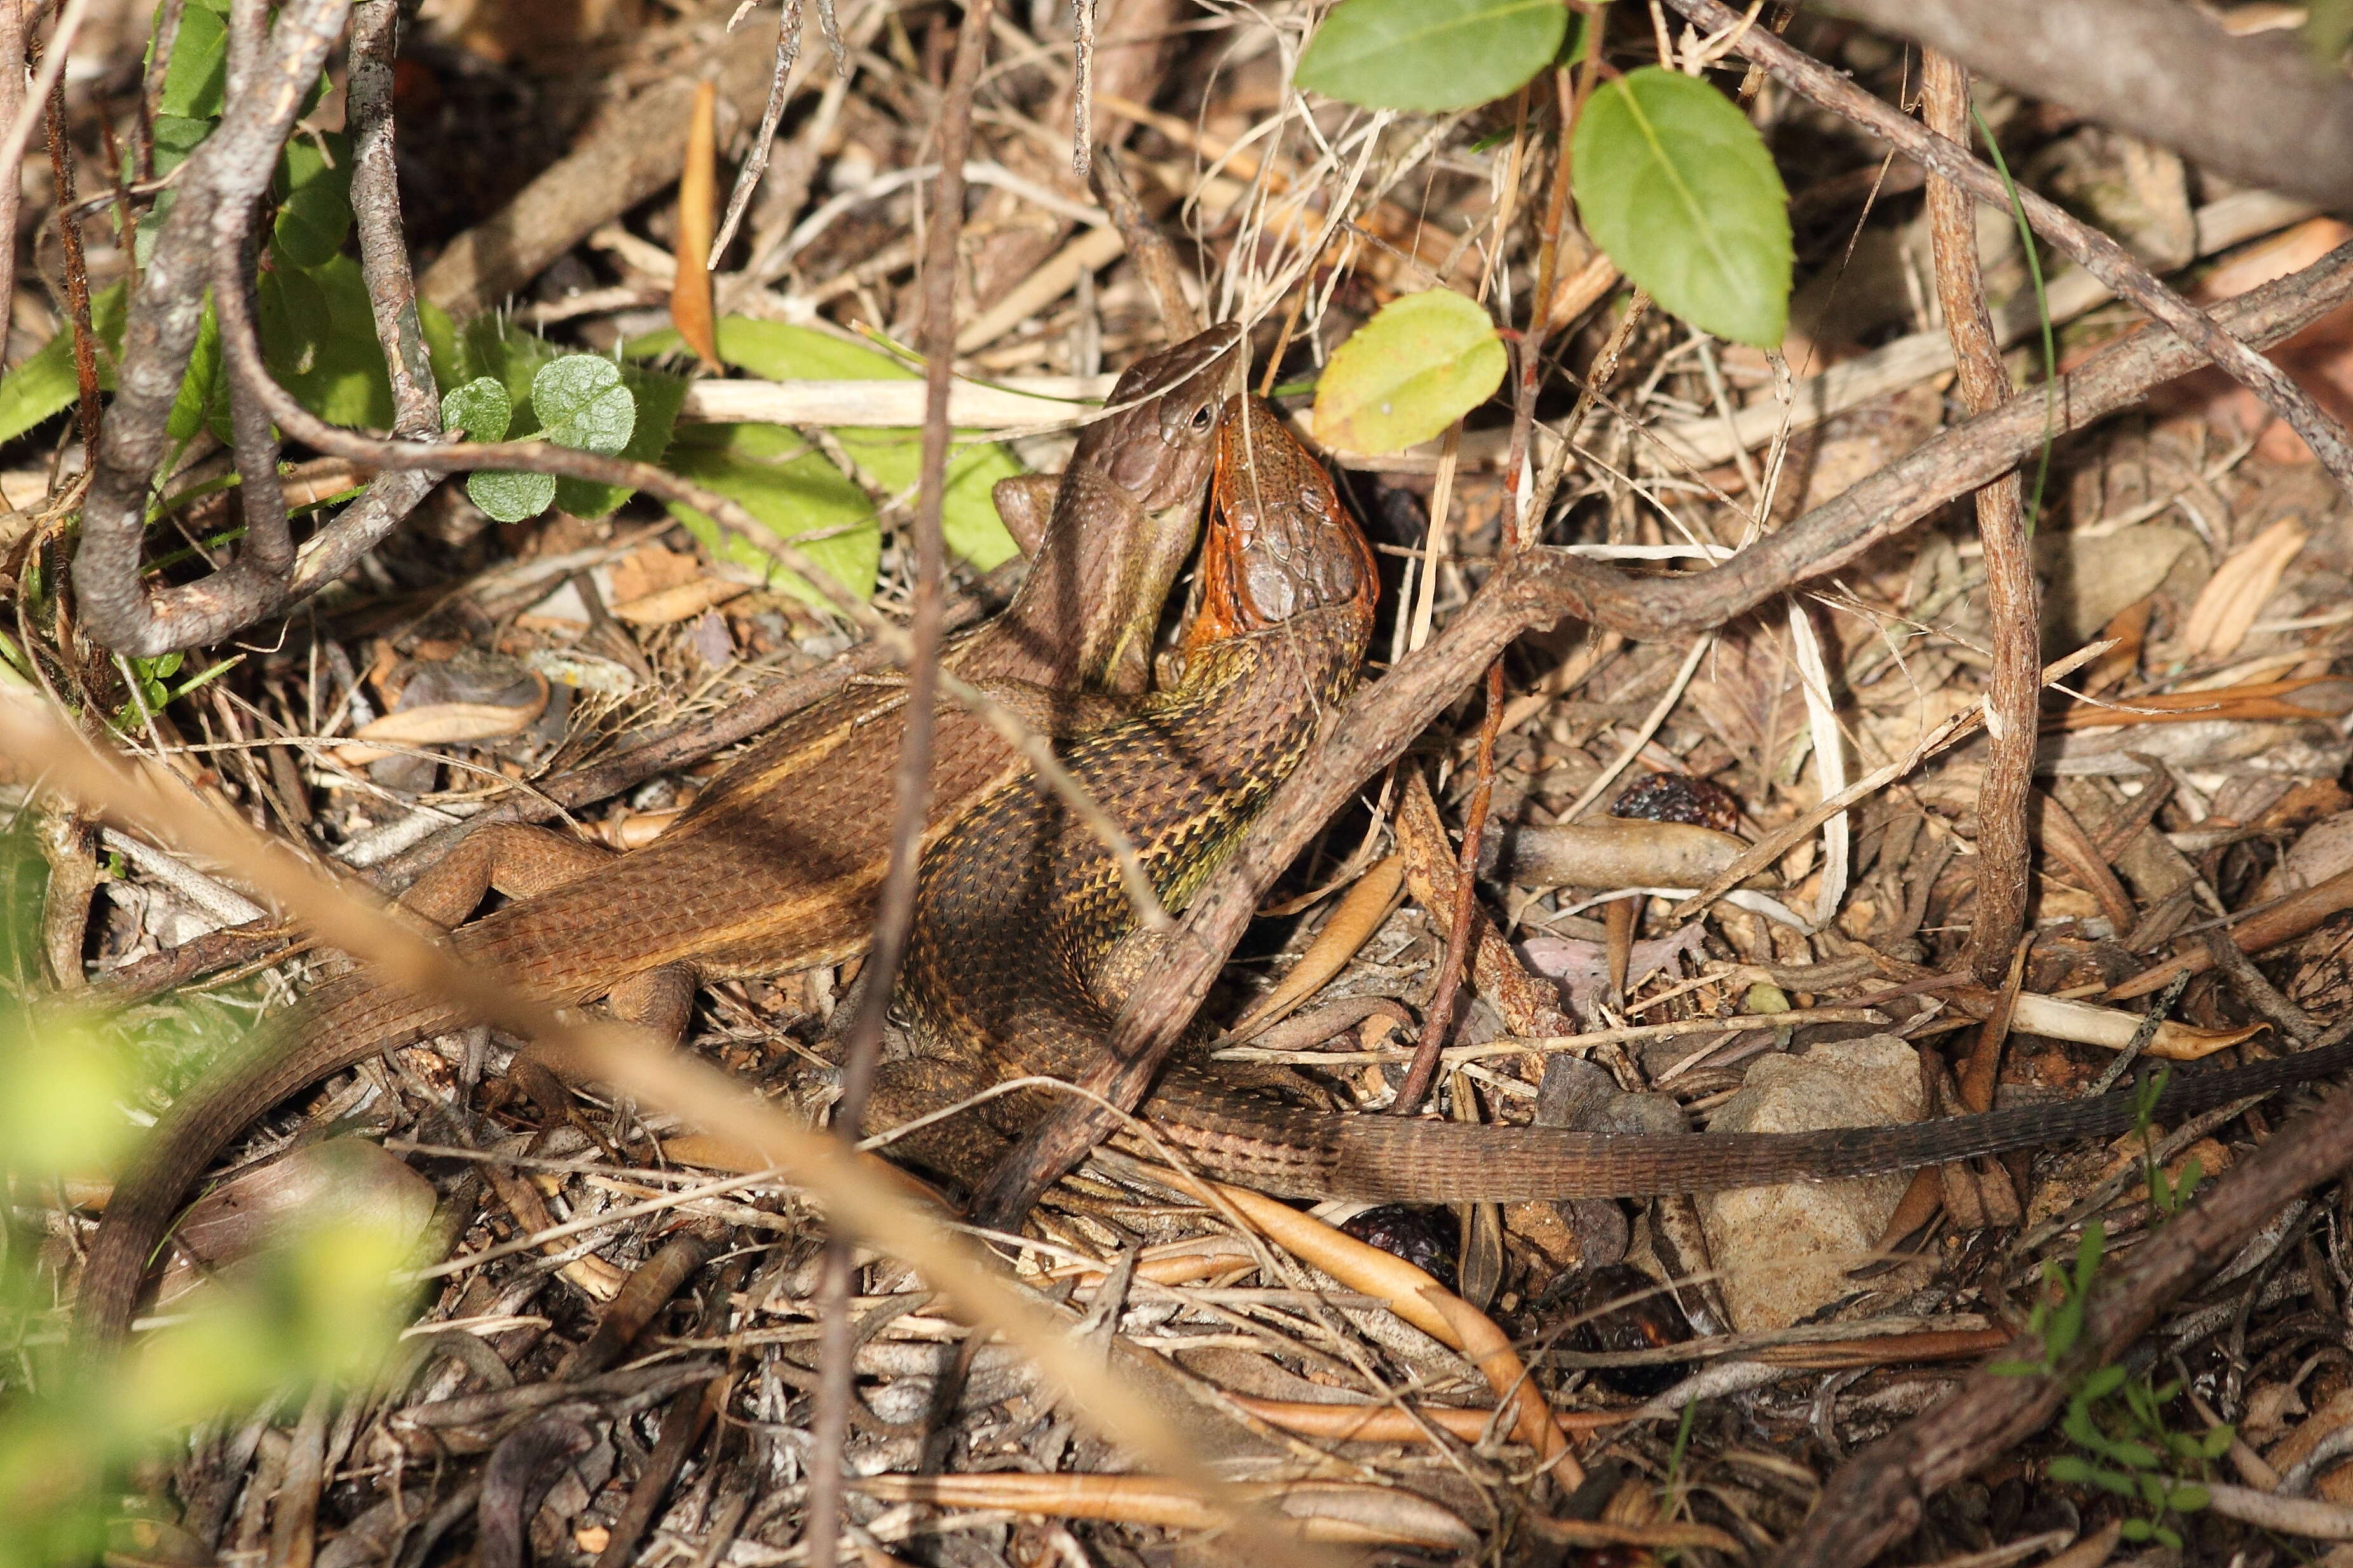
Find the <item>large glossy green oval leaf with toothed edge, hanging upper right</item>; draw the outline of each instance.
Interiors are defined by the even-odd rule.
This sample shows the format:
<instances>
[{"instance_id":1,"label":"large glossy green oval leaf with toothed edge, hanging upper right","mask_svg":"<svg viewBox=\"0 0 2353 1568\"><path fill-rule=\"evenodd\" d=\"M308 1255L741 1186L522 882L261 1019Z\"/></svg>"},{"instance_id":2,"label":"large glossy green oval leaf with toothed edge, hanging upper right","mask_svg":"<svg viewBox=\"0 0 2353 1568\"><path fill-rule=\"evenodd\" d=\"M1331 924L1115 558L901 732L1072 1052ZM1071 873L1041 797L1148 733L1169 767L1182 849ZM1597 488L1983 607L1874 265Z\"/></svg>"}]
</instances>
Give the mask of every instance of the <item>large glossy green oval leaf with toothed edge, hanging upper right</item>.
<instances>
[{"instance_id":1,"label":"large glossy green oval leaf with toothed edge, hanging upper right","mask_svg":"<svg viewBox=\"0 0 2353 1568\"><path fill-rule=\"evenodd\" d=\"M1661 306L1734 343L1788 329L1788 190L1708 82L1642 66L1586 101L1569 141L1586 233Z\"/></svg>"}]
</instances>

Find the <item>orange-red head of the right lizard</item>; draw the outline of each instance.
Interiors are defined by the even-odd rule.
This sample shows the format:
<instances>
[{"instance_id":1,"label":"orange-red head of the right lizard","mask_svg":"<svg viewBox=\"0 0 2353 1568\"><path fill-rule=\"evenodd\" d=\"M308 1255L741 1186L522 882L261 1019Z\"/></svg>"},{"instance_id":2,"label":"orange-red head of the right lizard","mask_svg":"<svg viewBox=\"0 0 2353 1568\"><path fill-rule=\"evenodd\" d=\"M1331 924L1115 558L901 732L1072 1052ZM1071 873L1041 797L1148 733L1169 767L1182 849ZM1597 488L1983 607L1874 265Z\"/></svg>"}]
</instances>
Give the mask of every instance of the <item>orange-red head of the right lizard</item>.
<instances>
[{"instance_id":1,"label":"orange-red head of the right lizard","mask_svg":"<svg viewBox=\"0 0 2353 1568\"><path fill-rule=\"evenodd\" d=\"M1188 646L1325 607L1358 607L1369 618L1379 581L1372 545L1315 454L1257 397L1228 400Z\"/></svg>"}]
</instances>

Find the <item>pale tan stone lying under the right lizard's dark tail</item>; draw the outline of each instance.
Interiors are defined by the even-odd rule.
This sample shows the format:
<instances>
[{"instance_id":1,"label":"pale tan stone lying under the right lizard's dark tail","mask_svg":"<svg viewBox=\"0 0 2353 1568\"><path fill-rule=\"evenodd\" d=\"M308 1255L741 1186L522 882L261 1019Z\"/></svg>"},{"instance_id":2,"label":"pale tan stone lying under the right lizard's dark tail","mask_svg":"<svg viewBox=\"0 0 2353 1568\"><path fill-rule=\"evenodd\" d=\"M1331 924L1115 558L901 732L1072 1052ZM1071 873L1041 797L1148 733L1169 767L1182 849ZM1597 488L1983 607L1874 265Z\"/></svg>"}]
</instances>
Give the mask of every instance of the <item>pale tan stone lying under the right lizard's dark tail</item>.
<instances>
[{"instance_id":1,"label":"pale tan stone lying under the right lizard's dark tail","mask_svg":"<svg viewBox=\"0 0 2353 1568\"><path fill-rule=\"evenodd\" d=\"M1704 1135L1885 1126L1925 1110L1911 1044L1871 1034L1760 1058ZM1854 1291L1847 1272L1873 1258L1908 1185L1906 1173L1889 1173L1704 1194L1699 1218L1732 1324L1788 1328Z\"/></svg>"}]
</instances>

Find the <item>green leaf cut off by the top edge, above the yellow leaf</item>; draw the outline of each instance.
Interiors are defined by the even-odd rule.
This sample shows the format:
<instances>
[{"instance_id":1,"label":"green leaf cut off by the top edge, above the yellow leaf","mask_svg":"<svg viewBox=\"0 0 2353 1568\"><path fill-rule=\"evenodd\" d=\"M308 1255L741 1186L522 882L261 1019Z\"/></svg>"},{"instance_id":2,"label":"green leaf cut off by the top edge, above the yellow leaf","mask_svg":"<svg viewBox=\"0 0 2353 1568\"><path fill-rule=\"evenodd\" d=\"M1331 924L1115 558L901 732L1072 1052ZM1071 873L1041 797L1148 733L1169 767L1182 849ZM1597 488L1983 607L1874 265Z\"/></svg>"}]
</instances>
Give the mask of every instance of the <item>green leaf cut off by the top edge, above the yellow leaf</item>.
<instances>
[{"instance_id":1,"label":"green leaf cut off by the top edge, above the yellow leaf","mask_svg":"<svg viewBox=\"0 0 2353 1568\"><path fill-rule=\"evenodd\" d=\"M1365 108L1471 108L1544 71L1567 26L1560 0L1344 0L1294 80Z\"/></svg>"}]
</instances>

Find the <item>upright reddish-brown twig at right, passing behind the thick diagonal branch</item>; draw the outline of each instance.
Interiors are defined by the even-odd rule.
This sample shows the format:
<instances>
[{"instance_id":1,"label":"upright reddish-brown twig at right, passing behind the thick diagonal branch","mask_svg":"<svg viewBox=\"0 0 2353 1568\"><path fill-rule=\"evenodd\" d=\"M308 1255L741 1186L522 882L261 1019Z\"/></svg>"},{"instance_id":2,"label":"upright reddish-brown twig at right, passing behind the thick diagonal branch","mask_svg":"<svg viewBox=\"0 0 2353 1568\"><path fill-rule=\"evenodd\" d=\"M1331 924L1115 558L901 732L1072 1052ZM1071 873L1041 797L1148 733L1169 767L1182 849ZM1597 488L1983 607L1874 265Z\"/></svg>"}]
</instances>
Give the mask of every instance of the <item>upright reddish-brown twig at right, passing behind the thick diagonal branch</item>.
<instances>
[{"instance_id":1,"label":"upright reddish-brown twig at right, passing behind the thick diagonal branch","mask_svg":"<svg viewBox=\"0 0 2353 1568\"><path fill-rule=\"evenodd\" d=\"M1920 61L1920 118L1948 141L1969 141L1969 73L1948 54ZM1937 299L1960 367L1960 404L1984 414L2009 397L2009 371L1993 336L1986 280L1977 268L1977 209L1948 179L1927 181ZM2017 473L1977 491L1977 534L1986 543L1986 623L1993 675L1986 679L1986 783L1977 797L1977 914L1969 969L1998 985L2026 929L2026 797L2035 773L2035 703L2042 691L2035 569L2026 555L2026 512Z\"/></svg>"}]
</instances>

